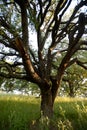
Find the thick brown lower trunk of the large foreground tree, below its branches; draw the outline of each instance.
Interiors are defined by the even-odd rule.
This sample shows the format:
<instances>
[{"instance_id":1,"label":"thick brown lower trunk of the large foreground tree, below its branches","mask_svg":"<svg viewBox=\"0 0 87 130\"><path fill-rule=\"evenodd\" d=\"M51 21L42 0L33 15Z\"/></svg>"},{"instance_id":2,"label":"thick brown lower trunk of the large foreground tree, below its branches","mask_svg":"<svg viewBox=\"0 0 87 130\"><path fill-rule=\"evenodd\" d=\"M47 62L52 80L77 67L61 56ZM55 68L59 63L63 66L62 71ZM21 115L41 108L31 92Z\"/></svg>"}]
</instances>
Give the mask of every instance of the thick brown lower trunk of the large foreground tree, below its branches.
<instances>
[{"instance_id":1,"label":"thick brown lower trunk of the large foreground tree, below its branches","mask_svg":"<svg viewBox=\"0 0 87 130\"><path fill-rule=\"evenodd\" d=\"M48 118L53 117L53 106L57 96L60 81L51 79L52 84L45 84L41 86L41 113Z\"/></svg>"}]
</instances>

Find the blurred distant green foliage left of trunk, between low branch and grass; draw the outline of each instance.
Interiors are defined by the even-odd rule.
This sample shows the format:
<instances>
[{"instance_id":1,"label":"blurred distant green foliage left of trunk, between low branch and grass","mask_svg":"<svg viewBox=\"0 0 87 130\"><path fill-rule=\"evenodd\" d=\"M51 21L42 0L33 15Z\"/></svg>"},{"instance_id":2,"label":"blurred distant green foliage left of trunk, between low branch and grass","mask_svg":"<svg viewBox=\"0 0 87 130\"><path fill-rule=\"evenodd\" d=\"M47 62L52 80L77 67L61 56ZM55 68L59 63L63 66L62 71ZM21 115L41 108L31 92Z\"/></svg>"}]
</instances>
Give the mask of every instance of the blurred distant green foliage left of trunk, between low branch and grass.
<instances>
[{"instance_id":1,"label":"blurred distant green foliage left of trunk, between low branch and grass","mask_svg":"<svg viewBox=\"0 0 87 130\"><path fill-rule=\"evenodd\" d=\"M27 82L26 80L19 79L6 79L1 78L0 80L0 90L6 93L19 93L25 95L40 95L40 90L36 84Z\"/></svg>"}]
</instances>

